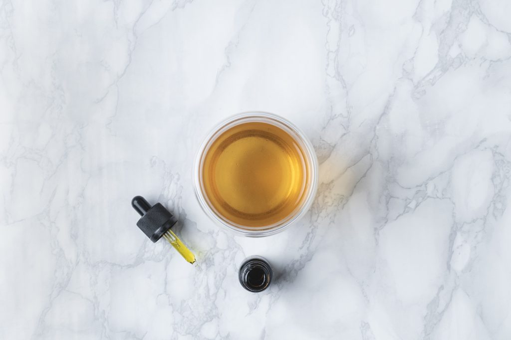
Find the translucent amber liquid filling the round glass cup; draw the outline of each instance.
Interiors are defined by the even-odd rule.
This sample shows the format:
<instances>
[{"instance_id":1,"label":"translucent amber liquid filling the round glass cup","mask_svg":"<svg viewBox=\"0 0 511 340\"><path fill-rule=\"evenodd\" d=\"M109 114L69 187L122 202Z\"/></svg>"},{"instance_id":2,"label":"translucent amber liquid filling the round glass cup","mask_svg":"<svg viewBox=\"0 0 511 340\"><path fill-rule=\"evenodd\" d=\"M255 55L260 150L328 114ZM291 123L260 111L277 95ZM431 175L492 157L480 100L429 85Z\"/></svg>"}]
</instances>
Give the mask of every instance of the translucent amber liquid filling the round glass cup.
<instances>
[{"instance_id":1,"label":"translucent amber liquid filling the round glass cup","mask_svg":"<svg viewBox=\"0 0 511 340\"><path fill-rule=\"evenodd\" d=\"M222 133L207 150L205 195L224 219L264 227L289 217L305 199L304 150L284 129L248 122Z\"/></svg>"}]
</instances>

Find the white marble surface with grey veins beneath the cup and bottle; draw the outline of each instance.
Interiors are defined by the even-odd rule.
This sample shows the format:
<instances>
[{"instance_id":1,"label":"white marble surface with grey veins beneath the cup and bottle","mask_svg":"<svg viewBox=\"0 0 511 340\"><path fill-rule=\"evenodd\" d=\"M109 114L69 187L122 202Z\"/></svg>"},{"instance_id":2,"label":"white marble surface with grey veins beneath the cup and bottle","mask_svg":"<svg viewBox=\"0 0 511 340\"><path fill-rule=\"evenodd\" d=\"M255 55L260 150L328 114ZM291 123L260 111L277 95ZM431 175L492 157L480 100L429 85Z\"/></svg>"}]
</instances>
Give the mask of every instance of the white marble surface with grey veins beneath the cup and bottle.
<instances>
[{"instance_id":1,"label":"white marble surface with grey veins beneath the cup and bottle","mask_svg":"<svg viewBox=\"0 0 511 340\"><path fill-rule=\"evenodd\" d=\"M508 0L0 2L0 338L511 338ZM300 126L308 216L201 211L202 137ZM137 229L160 201L198 268ZM245 256L278 273L242 290Z\"/></svg>"}]
</instances>

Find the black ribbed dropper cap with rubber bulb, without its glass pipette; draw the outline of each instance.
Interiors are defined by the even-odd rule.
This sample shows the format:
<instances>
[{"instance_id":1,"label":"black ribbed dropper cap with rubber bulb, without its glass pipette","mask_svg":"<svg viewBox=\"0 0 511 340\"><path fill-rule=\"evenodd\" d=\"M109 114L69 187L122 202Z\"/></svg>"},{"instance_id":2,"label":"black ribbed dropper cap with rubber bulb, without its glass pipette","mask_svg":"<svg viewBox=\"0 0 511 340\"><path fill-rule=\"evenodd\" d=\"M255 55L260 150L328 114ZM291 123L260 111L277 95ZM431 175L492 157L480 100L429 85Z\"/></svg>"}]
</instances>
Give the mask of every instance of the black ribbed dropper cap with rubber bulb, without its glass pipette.
<instances>
[{"instance_id":1,"label":"black ribbed dropper cap with rubber bulb, without its glass pipette","mask_svg":"<svg viewBox=\"0 0 511 340\"><path fill-rule=\"evenodd\" d=\"M156 203L153 206L142 196L135 196L131 200L131 206L142 217L136 225L144 231L151 241L158 241L177 222L163 205Z\"/></svg>"}]
</instances>

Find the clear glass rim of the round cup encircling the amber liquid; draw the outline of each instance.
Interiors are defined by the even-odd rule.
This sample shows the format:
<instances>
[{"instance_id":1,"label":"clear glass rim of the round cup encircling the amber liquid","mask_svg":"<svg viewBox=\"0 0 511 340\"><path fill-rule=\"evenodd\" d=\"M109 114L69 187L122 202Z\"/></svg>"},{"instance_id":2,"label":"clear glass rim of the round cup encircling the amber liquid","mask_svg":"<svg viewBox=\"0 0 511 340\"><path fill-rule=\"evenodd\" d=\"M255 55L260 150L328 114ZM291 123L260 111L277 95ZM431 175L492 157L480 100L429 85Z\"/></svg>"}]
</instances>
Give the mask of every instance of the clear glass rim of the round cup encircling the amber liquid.
<instances>
[{"instance_id":1,"label":"clear glass rim of the round cup encircling the amber liquid","mask_svg":"<svg viewBox=\"0 0 511 340\"><path fill-rule=\"evenodd\" d=\"M234 223L219 214L211 202L208 200L204 191L203 184L203 164L204 158L212 143L226 130L238 124L247 122L264 122L280 127L285 130L303 150L306 172L306 192L305 198L298 204L291 214L276 223L263 227L249 227ZM318 162L314 148L305 134L290 121L267 112L245 112L237 114L218 124L204 139L200 146L193 169L194 189L197 200L203 211L218 225L234 231L237 234L248 237L263 237L282 231L292 223L298 221L309 210L317 190L318 182Z\"/></svg>"}]
</instances>

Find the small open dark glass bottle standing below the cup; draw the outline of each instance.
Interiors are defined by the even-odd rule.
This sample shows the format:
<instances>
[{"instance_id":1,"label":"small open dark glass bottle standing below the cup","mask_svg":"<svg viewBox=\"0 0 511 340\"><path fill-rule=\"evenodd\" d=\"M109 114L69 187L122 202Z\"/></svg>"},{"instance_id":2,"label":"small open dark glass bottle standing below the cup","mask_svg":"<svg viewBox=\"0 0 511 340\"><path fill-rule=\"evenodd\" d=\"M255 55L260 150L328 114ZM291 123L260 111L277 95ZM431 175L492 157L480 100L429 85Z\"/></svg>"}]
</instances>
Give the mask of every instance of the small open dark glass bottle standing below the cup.
<instances>
[{"instance_id":1,"label":"small open dark glass bottle standing below the cup","mask_svg":"<svg viewBox=\"0 0 511 340\"><path fill-rule=\"evenodd\" d=\"M250 256L240 267L239 279L249 292L262 292L268 288L273 278L273 269L261 256Z\"/></svg>"}]
</instances>

